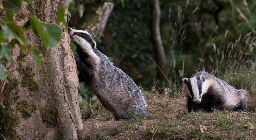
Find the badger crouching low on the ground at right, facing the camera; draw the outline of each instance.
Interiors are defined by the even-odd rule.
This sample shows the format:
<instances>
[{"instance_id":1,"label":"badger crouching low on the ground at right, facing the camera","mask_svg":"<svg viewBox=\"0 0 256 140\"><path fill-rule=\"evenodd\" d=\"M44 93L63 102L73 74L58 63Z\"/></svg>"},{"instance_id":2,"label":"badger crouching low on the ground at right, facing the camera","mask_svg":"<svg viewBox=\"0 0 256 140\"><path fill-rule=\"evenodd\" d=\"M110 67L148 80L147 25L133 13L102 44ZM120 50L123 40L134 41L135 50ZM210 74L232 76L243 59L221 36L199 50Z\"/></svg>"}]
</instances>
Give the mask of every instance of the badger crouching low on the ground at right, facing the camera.
<instances>
[{"instance_id":1,"label":"badger crouching low on the ground at right, facing the camera","mask_svg":"<svg viewBox=\"0 0 256 140\"><path fill-rule=\"evenodd\" d=\"M188 112L204 110L241 110L247 111L247 91L237 90L225 81L205 71L183 78L183 90L188 95Z\"/></svg>"}]
</instances>

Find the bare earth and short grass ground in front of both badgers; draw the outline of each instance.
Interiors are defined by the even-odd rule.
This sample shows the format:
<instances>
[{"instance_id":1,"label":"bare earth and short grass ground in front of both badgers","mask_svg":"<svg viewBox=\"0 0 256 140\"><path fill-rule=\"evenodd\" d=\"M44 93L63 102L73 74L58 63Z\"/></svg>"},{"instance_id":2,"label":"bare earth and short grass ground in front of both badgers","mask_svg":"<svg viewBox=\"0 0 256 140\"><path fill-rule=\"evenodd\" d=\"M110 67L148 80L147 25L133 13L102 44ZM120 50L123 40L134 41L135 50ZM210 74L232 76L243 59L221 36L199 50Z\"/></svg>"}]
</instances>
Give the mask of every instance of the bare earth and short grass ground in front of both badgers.
<instances>
[{"instance_id":1,"label":"bare earth and short grass ground in front of both badgers","mask_svg":"<svg viewBox=\"0 0 256 140\"><path fill-rule=\"evenodd\" d=\"M84 121L80 140L256 139L256 113L187 113L185 98L147 99L148 114L116 121L103 108ZM96 113L97 112L97 113Z\"/></svg>"}]
</instances>

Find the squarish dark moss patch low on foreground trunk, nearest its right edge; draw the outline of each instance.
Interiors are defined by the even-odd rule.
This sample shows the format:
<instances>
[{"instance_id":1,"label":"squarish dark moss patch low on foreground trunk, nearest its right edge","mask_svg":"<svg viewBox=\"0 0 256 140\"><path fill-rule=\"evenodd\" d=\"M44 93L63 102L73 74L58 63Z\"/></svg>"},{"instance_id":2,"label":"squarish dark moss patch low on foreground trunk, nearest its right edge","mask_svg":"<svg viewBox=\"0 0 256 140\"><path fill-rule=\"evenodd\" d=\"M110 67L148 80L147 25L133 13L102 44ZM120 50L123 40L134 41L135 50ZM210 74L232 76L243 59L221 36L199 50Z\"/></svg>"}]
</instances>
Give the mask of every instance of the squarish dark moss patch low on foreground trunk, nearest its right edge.
<instances>
[{"instance_id":1,"label":"squarish dark moss patch low on foreground trunk, nearest its right edge","mask_svg":"<svg viewBox=\"0 0 256 140\"><path fill-rule=\"evenodd\" d=\"M43 123L57 124L60 125L61 119L59 110L55 107L52 109L40 109L41 117L43 119Z\"/></svg>"}]
</instances>

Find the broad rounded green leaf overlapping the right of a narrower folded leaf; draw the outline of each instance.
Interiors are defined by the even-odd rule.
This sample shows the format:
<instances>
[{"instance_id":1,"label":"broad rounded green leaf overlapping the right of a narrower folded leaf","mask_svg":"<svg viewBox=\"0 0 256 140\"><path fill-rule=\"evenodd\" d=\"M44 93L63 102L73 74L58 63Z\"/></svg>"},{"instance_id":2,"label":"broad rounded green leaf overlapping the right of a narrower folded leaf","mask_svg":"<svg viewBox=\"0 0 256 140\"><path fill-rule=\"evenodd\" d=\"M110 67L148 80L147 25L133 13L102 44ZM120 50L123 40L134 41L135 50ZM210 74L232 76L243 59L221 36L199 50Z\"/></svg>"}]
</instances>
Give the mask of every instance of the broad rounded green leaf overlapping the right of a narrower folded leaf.
<instances>
[{"instance_id":1,"label":"broad rounded green leaf overlapping the right of a narrower folded leaf","mask_svg":"<svg viewBox=\"0 0 256 140\"><path fill-rule=\"evenodd\" d=\"M55 47L60 41L62 30L56 24L45 24L45 23L41 23L41 24L45 27L45 29L49 33L49 36L50 36L49 47L50 48Z\"/></svg>"}]
</instances>

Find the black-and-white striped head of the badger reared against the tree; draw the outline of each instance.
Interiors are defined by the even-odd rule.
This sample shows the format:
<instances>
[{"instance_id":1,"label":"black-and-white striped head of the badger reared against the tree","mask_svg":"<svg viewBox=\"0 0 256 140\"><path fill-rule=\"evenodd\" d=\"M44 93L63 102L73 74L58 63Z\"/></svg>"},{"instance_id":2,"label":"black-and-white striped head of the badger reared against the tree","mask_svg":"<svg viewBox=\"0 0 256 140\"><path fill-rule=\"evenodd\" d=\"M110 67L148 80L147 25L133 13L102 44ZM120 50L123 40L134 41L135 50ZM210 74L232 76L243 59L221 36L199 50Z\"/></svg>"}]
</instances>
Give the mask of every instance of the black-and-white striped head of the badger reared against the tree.
<instances>
[{"instance_id":1,"label":"black-and-white striped head of the badger reared against the tree","mask_svg":"<svg viewBox=\"0 0 256 140\"><path fill-rule=\"evenodd\" d=\"M75 30L69 27L68 33L71 41L74 42L77 47L78 54L85 53L93 58L96 63L100 62L100 58L95 54L96 42L87 31Z\"/></svg>"}]
</instances>

